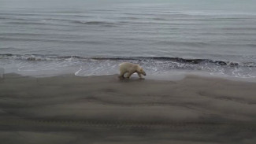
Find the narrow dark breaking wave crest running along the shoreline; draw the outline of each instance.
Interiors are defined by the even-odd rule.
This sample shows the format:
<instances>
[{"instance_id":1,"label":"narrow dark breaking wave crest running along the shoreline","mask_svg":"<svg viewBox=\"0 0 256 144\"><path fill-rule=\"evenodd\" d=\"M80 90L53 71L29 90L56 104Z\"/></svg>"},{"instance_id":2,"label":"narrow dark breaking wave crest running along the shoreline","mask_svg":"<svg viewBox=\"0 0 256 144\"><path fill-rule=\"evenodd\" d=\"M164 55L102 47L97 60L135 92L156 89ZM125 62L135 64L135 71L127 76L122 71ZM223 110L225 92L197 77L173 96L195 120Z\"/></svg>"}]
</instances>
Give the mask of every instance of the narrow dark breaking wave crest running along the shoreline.
<instances>
[{"instance_id":1,"label":"narrow dark breaking wave crest running along the shoreline","mask_svg":"<svg viewBox=\"0 0 256 144\"><path fill-rule=\"evenodd\" d=\"M40 54L0 54L0 59L14 59L22 61L64 61L68 59L76 59L78 61L165 61L179 62L191 65L213 64L219 66L231 67L256 67L253 61L236 62L236 61L221 61L200 58L182 58L182 57L82 57L82 56L55 56L55 55L40 55Z\"/></svg>"}]
</instances>

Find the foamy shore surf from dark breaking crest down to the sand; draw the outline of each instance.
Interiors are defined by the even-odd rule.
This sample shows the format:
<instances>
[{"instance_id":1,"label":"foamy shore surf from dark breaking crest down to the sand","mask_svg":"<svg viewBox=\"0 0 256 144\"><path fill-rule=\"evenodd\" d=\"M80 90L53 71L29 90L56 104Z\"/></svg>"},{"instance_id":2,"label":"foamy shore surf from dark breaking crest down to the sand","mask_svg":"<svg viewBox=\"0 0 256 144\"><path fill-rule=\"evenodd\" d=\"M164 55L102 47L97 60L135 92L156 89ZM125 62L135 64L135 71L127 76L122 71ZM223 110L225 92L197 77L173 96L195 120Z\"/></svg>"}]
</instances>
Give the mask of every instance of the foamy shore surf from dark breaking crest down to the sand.
<instances>
[{"instance_id":1,"label":"foamy shore surf from dark breaking crest down to the sand","mask_svg":"<svg viewBox=\"0 0 256 144\"><path fill-rule=\"evenodd\" d=\"M170 72L208 72L210 75L256 77L255 62L234 62L182 57L81 57L39 54L0 54L0 65L6 72L17 69L28 75L47 72L73 72L76 76L102 76L118 73L118 65L132 62L142 65L149 75L169 75Z\"/></svg>"}]
</instances>

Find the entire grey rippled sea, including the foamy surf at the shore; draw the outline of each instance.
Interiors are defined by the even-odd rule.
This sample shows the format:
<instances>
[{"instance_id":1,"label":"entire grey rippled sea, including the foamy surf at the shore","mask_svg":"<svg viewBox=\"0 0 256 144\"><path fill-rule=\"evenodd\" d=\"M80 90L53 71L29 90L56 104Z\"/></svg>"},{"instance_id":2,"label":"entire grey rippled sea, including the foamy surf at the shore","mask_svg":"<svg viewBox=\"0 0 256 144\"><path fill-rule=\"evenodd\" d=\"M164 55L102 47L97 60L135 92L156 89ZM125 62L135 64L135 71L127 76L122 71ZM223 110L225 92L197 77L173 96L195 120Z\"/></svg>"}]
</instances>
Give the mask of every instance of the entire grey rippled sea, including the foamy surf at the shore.
<instances>
[{"instance_id":1,"label":"entire grey rippled sea, including the foamy surf at the shore","mask_svg":"<svg viewBox=\"0 0 256 144\"><path fill-rule=\"evenodd\" d=\"M256 1L0 0L0 67L25 75L143 65L256 77Z\"/></svg>"}]
</instances>

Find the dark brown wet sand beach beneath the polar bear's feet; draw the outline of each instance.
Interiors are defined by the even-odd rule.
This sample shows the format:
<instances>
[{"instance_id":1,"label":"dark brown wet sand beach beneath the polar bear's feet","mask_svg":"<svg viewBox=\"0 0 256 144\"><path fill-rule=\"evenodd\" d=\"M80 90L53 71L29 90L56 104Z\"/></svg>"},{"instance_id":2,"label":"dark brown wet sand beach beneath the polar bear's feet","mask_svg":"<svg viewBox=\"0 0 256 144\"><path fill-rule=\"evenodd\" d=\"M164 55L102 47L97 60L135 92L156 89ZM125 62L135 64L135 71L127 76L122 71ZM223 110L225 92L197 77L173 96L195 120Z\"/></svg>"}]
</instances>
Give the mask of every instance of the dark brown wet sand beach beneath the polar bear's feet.
<instances>
[{"instance_id":1,"label":"dark brown wet sand beach beneath the polar bear's feet","mask_svg":"<svg viewBox=\"0 0 256 144\"><path fill-rule=\"evenodd\" d=\"M186 76L0 79L3 143L256 142L256 83Z\"/></svg>"}]
</instances>

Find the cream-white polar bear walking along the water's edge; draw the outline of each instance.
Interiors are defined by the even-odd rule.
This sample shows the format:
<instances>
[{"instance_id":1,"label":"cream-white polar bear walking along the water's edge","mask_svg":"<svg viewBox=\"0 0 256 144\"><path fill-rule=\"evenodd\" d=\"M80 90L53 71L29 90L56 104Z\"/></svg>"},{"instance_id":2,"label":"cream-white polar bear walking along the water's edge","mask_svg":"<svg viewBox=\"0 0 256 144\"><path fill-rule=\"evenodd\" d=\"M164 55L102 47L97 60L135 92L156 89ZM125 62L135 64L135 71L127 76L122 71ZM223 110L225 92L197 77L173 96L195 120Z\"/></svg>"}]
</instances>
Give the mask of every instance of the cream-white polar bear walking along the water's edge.
<instances>
[{"instance_id":1,"label":"cream-white polar bear walking along the water's edge","mask_svg":"<svg viewBox=\"0 0 256 144\"><path fill-rule=\"evenodd\" d=\"M143 68L139 65L132 64L129 62L123 62L119 65L120 76L119 79L124 79L124 74L128 72L127 78L129 79L133 73L137 73L140 79L144 79L142 75L146 76L146 72L144 72Z\"/></svg>"}]
</instances>

